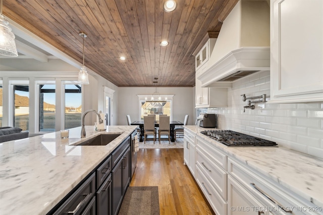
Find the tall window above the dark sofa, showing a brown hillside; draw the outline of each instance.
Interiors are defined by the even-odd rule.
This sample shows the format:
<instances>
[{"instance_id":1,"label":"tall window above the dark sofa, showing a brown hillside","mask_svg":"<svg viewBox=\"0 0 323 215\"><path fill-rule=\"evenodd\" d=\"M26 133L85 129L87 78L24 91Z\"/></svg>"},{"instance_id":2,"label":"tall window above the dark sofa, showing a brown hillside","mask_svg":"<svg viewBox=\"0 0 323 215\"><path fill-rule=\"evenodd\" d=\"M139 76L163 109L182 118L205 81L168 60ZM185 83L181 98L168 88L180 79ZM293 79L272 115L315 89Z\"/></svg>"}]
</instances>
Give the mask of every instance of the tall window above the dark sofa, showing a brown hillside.
<instances>
[{"instance_id":1,"label":"tall window above the dark sofa, showing a brown hillside","mask_svg":"<svg viewBox=\"0 0 323 215\"><path fill-rule=\"evenodd\" d=\"M14 126L29 130L29 86L13 85Z\"/></svg>"}]
</instances>

